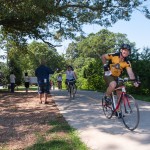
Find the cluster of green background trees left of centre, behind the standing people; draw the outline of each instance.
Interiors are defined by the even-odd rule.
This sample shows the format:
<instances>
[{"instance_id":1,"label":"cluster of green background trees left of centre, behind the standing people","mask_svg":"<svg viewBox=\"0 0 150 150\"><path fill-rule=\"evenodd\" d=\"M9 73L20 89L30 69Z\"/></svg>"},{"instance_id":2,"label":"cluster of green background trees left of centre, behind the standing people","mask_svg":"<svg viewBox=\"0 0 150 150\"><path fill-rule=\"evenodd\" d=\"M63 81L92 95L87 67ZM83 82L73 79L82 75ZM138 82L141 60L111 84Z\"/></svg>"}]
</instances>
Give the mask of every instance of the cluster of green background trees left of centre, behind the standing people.
<instances>
[{"instance_id":1,"label":"cluster of green background trees left of centre, behind the standing people","mask_svg":"<svg viewBox=\"0 0 150 150\"><path fill-rule=\"evenodd\" d=\"M8 71L6 73L3 70L5 72L5 83L9 83L9 75L13 71L18 85L24 82L23 76L25 72L28 72L29 76L35 76L35 69L39 66L42 59L46 61L47 66L53 71L59 68L63 69L66 64L65 59L57 53L56 49L49 47L45 43L35 41L28 44L24 51L20 51L19 47L10 47L7 59Z\"/></svg>"}]
</instances>

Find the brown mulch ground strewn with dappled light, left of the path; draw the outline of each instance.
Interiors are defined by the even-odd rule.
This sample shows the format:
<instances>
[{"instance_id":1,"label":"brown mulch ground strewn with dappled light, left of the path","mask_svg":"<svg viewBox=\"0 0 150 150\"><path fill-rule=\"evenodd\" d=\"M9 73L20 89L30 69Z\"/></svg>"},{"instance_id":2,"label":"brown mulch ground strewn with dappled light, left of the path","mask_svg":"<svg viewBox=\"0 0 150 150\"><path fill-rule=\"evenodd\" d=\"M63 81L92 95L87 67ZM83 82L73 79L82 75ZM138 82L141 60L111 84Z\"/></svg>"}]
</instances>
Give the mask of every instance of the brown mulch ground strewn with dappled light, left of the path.
<instances>
[{"instance_id":1,"label":"brown mulch ground strewn with dappled light, left of the path","mask_svg":"<svg viewBox=\"0 0 150 150\"><path fill-rule=\"evenodd\" d=\"M39 104L37 92L0 93L0 149L24 149L33 145L36 133L46 133L52 120L61 119L53 96Z\"/></svg>"}]
</instances>

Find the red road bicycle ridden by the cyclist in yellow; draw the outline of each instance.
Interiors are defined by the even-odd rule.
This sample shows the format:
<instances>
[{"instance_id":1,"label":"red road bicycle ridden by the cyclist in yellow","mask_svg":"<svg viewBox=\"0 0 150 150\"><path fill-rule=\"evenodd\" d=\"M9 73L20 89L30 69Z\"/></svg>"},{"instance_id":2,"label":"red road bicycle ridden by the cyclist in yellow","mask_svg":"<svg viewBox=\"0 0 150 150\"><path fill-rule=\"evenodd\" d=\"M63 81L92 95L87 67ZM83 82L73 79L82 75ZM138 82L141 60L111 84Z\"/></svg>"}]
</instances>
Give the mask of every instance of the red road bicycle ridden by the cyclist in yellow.
<instances>
[{"instance_id":1,"label":"red road bicycle ridden by the cyclist in yellow","mask_svg":"<svg viewBox=\"0 0 150 150\"><path fill-rule=\"evenodd\" d=\"M111 94L111 103L108 104L104 97L102 98L102 107L105 116L111 119L112 116L121 114L119 117L122 119L125 127L131 131L138 127L140 120L139 107L134 97L126 93L125 82L133 81L128 78L118 78L118 83L122 83ZM135 81L135 80L134 80ZM138 83L140 83L138 81ZM115 92L121 90L121 95L118 98ZM118 113L119 112L119 113Z\"/></svg>"}]
</instances>

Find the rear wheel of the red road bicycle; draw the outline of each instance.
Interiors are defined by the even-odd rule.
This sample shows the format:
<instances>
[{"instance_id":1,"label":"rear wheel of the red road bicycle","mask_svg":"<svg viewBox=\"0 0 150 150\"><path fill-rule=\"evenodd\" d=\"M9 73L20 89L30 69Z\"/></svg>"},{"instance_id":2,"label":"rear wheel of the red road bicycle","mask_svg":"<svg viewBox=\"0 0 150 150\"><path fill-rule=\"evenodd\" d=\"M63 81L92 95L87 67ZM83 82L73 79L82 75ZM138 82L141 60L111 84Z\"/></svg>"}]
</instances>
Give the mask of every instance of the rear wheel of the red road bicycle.
<instances>
[{"instance_id":1,"label":"rear wheel of the red road bicycle","mask_svg":"<svg viewBox=\"0 0 150 150\"><path fill-rule=\"evenodd\" d=\"M107 104L104 97L102 98L102 107L103 107L103 112L104 112L105 116L108 119L111 119L111 117L113 115L112 104L111 105Z\"/></svg>"}]
</instances>

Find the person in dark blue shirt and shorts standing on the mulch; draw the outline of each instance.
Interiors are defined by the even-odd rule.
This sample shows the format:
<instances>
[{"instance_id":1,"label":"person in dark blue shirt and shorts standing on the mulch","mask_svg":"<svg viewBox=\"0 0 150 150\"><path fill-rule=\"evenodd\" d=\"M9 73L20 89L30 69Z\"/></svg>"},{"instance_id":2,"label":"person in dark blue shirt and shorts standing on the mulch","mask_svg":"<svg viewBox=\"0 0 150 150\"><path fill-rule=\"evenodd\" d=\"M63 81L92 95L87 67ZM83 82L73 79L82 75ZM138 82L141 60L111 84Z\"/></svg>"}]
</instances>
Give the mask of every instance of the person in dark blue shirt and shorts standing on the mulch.
<instances>
[{"instance_id":1,"label":"person in dark blue shirt and shorts standing on the mulch","mask_svg":"<svg viewBox=\"0 0 150 150\"><path fill-rule=\"evenodd\" d=\"M50 74L54 72L45 65L45 61L42 60L40 66L35 70L35 76L38 82L38 93L40 97L40 104L42 104L42 97L44 97L44 103L47 104L47 94L49 94L50 84L49 78Z\"/></svg>"}]
</instances>

